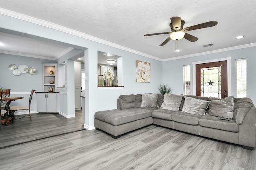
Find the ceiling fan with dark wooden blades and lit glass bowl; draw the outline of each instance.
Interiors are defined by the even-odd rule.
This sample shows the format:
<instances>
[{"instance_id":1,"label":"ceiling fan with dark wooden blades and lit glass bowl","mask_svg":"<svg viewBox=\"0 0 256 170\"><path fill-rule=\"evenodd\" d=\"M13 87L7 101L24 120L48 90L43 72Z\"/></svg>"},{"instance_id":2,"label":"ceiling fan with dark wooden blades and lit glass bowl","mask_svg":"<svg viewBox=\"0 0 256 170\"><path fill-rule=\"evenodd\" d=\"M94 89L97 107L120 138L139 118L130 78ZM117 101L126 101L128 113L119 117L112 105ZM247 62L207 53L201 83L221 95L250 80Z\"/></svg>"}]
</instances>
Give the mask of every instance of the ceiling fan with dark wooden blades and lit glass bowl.
<instances>
[{"instance_id":1,"label":"ceiling fan with dark wooden blades and lit glass bowl","mask_svg":"<svg viewBox=\"0 0 256 170\"><path fill-rule=\"evenodd\" d=\"M172 32L152 33L152 34L146 34L144 36L170 34L170 36L162 44L160 44L160 46L166 45L166 43L168 43L168 41L170 41L171 39L178 41L179 39L185 38L190 42L195 42L198 40L198 38L186 33L186 31L191 31L191 30L201 29L206 27L213 27L218 23L217 21L209 21L205 23L200 23L198 25L186 27L183 29L183 25L185 23L184 20L182 20L180 17L172 17L170 19L171 19L170 27L172 29Z\"/></svg>"}]
</instances>

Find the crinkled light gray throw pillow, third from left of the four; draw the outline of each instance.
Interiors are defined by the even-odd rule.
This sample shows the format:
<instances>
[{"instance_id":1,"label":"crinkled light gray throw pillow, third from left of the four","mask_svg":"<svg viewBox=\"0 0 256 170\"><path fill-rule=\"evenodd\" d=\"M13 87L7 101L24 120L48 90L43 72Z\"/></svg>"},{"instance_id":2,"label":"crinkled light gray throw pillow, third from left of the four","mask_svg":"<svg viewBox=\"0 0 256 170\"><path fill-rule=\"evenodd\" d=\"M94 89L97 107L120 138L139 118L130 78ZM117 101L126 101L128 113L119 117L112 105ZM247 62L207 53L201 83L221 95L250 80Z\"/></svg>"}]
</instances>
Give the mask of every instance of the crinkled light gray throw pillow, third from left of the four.
<instances>
[{"instance_id":1,"label":"crinkled light gray throw pillow, third from left of the four","mask_svg":"<svg viewBox=\"0 0 256 170\"><path fill-rule=\"evenodd\" d=\"M205 110L209 106L210 102L206 100L200 100L196 98L191 98L184 96L184 105L182 111L186 113L191 113L195 115L204 115Z\"/></svg>"}]
</instances>

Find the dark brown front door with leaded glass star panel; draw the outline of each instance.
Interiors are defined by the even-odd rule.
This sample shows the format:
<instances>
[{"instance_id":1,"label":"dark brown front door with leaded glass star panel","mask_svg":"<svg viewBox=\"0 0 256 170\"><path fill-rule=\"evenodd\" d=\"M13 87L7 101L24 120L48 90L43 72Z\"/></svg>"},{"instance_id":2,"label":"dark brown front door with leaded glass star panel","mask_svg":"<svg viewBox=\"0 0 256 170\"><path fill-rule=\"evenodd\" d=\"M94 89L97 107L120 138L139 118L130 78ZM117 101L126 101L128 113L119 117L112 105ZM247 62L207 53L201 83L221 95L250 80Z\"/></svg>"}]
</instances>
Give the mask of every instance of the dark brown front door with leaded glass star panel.
<instances>
[{"instance_id":1,"label":"dark brown front door with leaded glass star panel","mask_svg":"<svg viewBox=\"0 0 256 170\"><path fill-rule=\"evenodd\" d=\"M196 64L196 96L228 96L227 61Z\"/></svg>"}]
</instances>

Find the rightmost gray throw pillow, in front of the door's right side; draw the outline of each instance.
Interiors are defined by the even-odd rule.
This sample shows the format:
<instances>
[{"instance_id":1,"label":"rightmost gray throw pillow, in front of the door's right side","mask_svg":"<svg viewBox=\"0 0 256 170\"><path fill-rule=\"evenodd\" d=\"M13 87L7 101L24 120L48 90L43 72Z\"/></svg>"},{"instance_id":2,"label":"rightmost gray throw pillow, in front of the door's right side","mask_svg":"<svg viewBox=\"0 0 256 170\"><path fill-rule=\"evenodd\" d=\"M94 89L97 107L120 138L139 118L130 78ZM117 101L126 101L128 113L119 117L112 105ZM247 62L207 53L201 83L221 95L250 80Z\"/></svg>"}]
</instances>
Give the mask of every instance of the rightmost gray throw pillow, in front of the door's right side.
<instances>
[{"instance_id":1,"label":"rightmost gray throw pillow, in front of the door's right side","mask_svg":"<svg viewBox=\"0 0 256 170\"><path fill-rule=\"evenodd\" d=\"M232 119L234 113L234 96L229 96L226 98L209 98L209 115L223 117L226 119Z\"/></svg>"}]
</instances>

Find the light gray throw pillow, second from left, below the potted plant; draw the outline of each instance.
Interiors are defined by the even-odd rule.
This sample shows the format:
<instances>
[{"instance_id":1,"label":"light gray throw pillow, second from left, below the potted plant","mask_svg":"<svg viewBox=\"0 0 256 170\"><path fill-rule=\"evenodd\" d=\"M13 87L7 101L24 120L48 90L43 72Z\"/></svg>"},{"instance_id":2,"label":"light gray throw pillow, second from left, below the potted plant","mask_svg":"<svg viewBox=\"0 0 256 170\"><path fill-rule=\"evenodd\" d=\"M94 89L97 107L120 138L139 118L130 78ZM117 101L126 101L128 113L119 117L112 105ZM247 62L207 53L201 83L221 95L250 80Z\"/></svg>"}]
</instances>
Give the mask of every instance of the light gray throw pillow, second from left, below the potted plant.
<instances>
[{"instance_id":1,"label":"light gray throw pillow, second from left, below the potted plant","mask_svg":"<svg viewBox=\"0 0 256 170\"><path fill-rule=\"evenodd\" d=\"M183 94L180 94L180 95L170 94L170 93L164 94L164 102L162 103L162 106L160 107L160 109L179 111L182 96Z\"/></svg>"}]
</instances>

